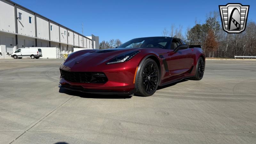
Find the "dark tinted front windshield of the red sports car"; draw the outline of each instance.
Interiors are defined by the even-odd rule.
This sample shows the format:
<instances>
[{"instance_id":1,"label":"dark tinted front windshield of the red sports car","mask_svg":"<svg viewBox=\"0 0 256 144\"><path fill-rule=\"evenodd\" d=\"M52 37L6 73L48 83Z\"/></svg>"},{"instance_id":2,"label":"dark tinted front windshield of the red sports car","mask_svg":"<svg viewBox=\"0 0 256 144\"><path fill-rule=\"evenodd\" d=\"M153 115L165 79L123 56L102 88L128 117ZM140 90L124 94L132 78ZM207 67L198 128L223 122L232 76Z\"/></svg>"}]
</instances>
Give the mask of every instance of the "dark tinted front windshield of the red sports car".
<instances>
[{"instance_id":1,"label":"dark tinted front windshield of the red sports car","mask_svg":"<svg viewBox=\"0 0 256 144\"><path fill-rule=\"evenodd\" d=\"M132 39L118 48L163 48L169 45L171 37L142 37Z\"/></svg>"}]
</instances>

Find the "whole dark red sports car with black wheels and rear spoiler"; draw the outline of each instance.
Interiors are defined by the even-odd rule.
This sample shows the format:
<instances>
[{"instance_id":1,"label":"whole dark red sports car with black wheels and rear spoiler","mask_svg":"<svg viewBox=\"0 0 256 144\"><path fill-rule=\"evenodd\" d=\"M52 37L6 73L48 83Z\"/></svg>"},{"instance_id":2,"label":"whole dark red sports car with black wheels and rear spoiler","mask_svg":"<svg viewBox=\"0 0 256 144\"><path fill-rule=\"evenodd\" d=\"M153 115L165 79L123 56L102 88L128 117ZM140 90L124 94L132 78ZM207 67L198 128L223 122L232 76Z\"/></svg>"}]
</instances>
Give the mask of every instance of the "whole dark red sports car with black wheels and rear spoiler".
<instances>
[{"instance_id":1,"label":"whole dark red sports car with black wheels and rear spoiler","mask_svg":"<svg viewBox=\"0 0 256 144\"><path fill-rule=\"evenodd\" d=\"M182 79L201 80L205 55L200 45L179 38L143 37L117 48L81 50L60 65L60 86L98 94L140 96Z\"/></svg>"}]
</instances>

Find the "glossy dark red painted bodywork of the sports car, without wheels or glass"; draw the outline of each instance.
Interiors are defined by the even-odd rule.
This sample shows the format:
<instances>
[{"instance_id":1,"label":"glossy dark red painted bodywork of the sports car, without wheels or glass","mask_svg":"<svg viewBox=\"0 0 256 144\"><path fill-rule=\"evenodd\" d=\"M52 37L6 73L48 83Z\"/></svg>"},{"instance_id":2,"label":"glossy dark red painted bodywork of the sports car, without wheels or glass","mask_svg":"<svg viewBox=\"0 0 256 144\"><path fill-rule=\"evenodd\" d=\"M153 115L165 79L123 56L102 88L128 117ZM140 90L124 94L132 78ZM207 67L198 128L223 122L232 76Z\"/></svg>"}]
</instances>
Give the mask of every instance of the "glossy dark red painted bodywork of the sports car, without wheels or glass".
<instances>
[{"instance_id":1,"label":"glossy dark red painted bodywork of the sports car, without wheels or glass","mask_svg":"<svg viewBox=\"0 0 256 144\"><path fill-rule=\"evenodd\" d=\"M112 58L129 51L140 51L132 59L115 64L106 64ZM100 51L82 50L74 52L60 66L60 69L70 72L103 72L108 81L106 83L75 83L60 78L60 87L71 90L111 94L134 93L136 86L134 83L138 77L140 65L147 58L151 58L159 64L161 78L159 86L176 82L178 80L195 75L195 64L199 57L205 58L201 48L188 48L174 52L170 49L161 48L116 48ZM137 72L136 69L138 68ZM137 73L137 75L135 75ZM69 89L68 88L68 89ZM76 89L78 88L78 89Z\"/></svg>"}]
</instances>

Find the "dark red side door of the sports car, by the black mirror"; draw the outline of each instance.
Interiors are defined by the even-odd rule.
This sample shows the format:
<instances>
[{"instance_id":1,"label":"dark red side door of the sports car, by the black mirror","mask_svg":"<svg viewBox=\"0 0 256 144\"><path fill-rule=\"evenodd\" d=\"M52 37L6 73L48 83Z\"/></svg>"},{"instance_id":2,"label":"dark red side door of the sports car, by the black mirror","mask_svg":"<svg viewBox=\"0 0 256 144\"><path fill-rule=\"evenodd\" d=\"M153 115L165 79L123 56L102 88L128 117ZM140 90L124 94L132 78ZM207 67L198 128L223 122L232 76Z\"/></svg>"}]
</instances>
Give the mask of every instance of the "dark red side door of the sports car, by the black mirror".
<instances>
[{"instance_id":1,"label":"dark red side door of the sports car, by the black mirror","mask_svg":"<svg viewBox=\"0 0 256 144\"><path fill-rule=\"evenodd\" d=\"M172 43L176 43L177 46L183 44L183 41L179 39L174 39ZM174 51L172 48L170 53L170 75L171 77L180 76L188 72L193 65L193 49L187 48Z\"/></svg>"}]
</instances>

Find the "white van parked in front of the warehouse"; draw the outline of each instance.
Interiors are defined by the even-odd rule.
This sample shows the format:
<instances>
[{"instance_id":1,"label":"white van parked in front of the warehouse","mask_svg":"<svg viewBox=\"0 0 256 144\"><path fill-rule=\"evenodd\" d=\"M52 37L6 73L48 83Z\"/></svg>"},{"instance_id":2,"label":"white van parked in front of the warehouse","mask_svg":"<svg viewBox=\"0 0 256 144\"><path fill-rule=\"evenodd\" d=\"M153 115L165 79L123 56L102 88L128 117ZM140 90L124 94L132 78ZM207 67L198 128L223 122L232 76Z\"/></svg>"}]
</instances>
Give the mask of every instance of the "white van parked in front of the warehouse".
<instances>
[{"instance_id":1,"label":"white van parked in front of the warehouse","mask_svg":"<svg viewBox=\"0 0 256 144\"><path fill-rule=\"evenodd\" d=\"M11 55L14 59L22 59L22 58L31 58L31 59L38 59L42 57L42 50L37 48L22 48L18 49Z\"/></svg>"}]
</instances>

